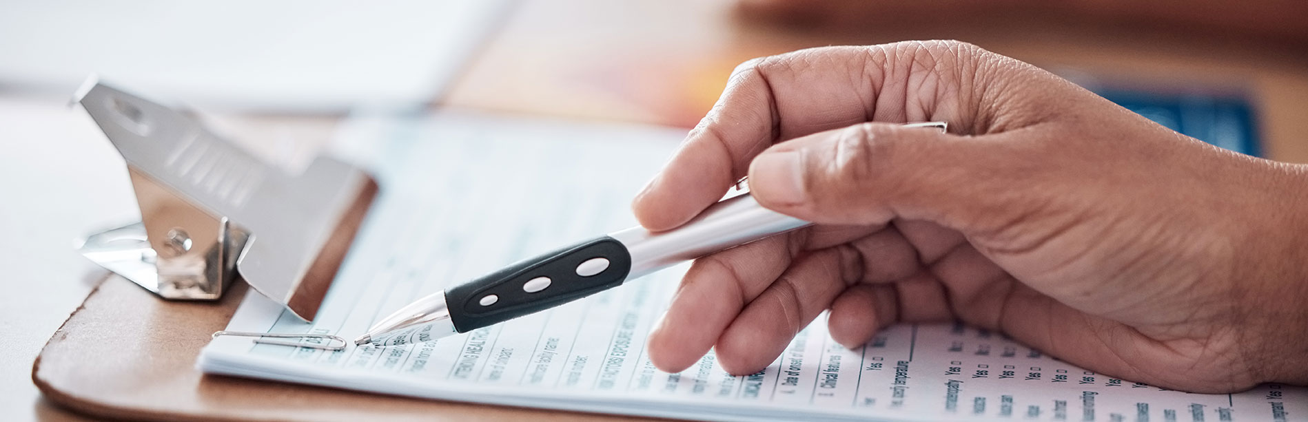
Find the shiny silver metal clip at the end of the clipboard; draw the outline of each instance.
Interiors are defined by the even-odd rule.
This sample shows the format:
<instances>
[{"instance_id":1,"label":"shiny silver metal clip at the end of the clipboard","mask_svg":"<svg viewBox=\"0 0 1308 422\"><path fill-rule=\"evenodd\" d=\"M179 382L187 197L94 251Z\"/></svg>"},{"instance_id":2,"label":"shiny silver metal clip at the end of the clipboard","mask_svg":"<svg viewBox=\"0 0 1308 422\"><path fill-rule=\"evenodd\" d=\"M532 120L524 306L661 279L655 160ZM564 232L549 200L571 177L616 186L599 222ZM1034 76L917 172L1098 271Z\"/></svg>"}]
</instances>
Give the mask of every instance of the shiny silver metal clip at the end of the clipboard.
<instances>
[{"instance_id":1,"label":"shiny silver metal clip at the end of the clipboard","mask_svg":"<svg viewBox=\"0 0 1308 422\"><path fill-rule=\"evenodd\" d=\"M78 248L165 299L215 300L239 273L313 320L377 183L317 157L286 174L169 107L99 84L77 102L127 161L141 222L93 234Z\"/></svg>"}]
</instances>

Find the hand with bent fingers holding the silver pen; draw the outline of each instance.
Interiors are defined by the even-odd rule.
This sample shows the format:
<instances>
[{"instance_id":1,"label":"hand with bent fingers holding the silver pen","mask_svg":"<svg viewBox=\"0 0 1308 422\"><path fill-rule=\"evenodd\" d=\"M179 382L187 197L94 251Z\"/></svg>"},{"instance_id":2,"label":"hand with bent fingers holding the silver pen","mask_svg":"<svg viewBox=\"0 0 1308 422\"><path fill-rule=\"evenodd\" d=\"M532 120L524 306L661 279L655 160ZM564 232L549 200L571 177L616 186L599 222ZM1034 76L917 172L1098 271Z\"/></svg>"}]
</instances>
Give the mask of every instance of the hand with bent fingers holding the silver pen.
<instances>
[{"instance_id":1,"label":"hand with bent fingers holding the silver pen","mask_svg":"<svg viewBox=\"0 0 1308 422\"><path fill-rule=\"evenodd\" d=\"M950 123L951 133L899 123ZM818 225L697 260L650 334L664 371L710 348L773 362L821 311L857 348L963 320L1100 374L1230 392L1304 383L1305 169L1179 135L956 42L740 65L634 200L684 223L740 176Z\"/></svg>"}]
</instances>

